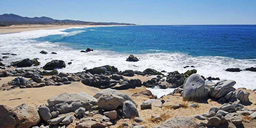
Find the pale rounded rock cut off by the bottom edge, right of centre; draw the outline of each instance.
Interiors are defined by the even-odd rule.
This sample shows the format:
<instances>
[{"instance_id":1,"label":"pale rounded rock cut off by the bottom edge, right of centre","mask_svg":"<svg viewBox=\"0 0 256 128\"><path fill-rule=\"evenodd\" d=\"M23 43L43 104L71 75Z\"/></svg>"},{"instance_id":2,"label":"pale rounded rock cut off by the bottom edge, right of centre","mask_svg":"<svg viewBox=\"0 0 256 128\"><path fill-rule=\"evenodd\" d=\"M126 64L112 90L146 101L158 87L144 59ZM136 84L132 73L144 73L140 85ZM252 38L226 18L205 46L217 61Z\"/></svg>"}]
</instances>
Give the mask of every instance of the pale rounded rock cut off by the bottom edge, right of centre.
<instances>
[{"instance_id":1,"label":"pale rounded rock cut off by the bottom edge, right of centre","mask_svg":"<svg viewBox=\"0 0 256 128\"><path fill-rule=\"evenodd\" d=\"M199 124L193 117L174 116L156 128L199 128Z\"/></svg>"}]
</instances>

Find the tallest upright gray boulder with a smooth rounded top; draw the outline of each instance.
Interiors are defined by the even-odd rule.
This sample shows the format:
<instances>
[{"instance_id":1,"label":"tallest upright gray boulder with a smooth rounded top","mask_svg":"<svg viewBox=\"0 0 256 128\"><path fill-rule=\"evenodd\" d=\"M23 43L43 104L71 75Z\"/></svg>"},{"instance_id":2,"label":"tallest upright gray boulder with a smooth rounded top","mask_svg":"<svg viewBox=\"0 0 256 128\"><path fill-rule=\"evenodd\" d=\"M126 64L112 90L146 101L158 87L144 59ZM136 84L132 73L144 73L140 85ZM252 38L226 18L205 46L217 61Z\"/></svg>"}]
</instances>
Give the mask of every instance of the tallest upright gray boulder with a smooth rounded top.
<instances>
[{"instance_id":1,"label":"tallest upright gray boulder with a smooth rounded top","mask_svg":"<svg viewBox=\"0 0 256 128\"><path fill-rule=\"evenodd\" d=\"M201 100L208 96L208 90L204 88L204 79L199 74L189 76L183 86L182 97L189 100Z\"/></svg>"}]
</instances>

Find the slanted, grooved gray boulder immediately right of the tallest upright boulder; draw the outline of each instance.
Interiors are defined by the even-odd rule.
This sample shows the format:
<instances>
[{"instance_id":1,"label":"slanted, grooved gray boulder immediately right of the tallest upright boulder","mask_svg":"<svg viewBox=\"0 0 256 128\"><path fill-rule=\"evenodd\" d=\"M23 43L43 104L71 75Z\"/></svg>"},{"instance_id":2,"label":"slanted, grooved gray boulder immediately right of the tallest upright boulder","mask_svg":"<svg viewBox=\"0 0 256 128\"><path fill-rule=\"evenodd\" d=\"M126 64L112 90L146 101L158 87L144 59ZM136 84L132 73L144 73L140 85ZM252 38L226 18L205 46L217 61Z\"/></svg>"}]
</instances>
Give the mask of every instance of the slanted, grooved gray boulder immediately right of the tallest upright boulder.
<instances>
[{"instance_id":1,"label":"slanted, grooved gray boulder immediately right of the tallest upright boulder","mask_svg":"<svg viewBox=\"0 0 256 128\"><path fill-rule=\"evenodd\" d=\"M236 89L233 86L236 84L234 80L227 80L224 82L219 83L216 86L211 86L209 88L209 95L212 98L219 99L227 95L229 92L234 92Z\"/></svg>"}]
</instances>

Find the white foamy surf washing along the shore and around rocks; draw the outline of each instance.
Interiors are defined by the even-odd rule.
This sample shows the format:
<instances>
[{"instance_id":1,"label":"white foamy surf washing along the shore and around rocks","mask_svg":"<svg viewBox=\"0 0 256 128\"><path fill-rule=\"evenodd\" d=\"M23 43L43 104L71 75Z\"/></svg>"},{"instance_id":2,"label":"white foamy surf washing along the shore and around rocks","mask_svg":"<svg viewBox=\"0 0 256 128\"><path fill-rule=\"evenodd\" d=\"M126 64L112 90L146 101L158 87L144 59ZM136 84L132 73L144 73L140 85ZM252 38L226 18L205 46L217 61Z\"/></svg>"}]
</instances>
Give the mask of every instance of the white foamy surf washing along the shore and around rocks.
<instances>
[{"instance_id":1,"label":"white foamy surf washing along the shore and around rocks","mask_svg":"<svg viewBox=\"0 0 256 128\"><path fill-rule=\"evenodd\" d=\"M115 66L119 70L133 69L143 71L146 68L153 68L158 71L165 70L167 72L178 70L180 73L186 72L188 69L184 66L195 66L197 73L205 77L219 77L220 79L231 79L236 81L235 88L246 87L247 89L256 88L256 73L251 71L241 72L227 72L227 68L250 68L256 67L256 59L239 60L228 57L219 56L199 56L192 57L182 53L147 53L137 54L140 61L128 62L125 61L129 56L128 53L116 53L112 51L101 51L94 49L94 52L80 52L80 50L73 50L71 48L61 45L62 43L41 42L38 43L31 38L38 38L52 34L68 34L62 32L65 29L55 30L35 30L21 33L12 33L0 35L0 54L5 52L18 54L17 56L7 55L10 58L1 61L4 64L9 64L13 61L25 58L39 58L41 64L38 67L43 67L51 60L64 60L66 68L58 69L63 72L80 72L83 68L94 68L103 65ZM45 50L48 54L40 54L39 52ZM57 54L51 54L57 52ZM71 61L73 60L73 61ZM68 65L68 62L72 62ZM137 67L135 67L137 66ZM151 90L151 89L149 89ZM161 93L165 94L172 90L155 89L151 90L154 94L160 96ZM166 92L167 93L167 92Z\"/></svg>"}]
</instances>

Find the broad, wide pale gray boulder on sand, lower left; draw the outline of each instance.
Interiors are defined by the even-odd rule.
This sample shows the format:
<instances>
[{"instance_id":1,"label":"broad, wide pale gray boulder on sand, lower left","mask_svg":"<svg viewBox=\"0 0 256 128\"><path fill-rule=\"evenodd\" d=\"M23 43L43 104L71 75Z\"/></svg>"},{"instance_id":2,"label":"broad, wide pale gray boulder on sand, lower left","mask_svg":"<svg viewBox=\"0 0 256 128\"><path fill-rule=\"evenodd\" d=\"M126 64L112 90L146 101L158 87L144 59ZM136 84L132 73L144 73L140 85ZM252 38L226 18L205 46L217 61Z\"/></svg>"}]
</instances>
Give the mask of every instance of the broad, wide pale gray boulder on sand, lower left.
<instances>
[{"instance_id":1,"label":"broad, wide pale gray boulder on sand, lower left","mask_svg":"<svg viewBox=\"0 0 256 128\"><path fill-rule=\"evenodd\" d=\"M97 99L85 92L79 93L62 93L47 100L46 107L51 111L59 111L60 114L74 112L82 107L89 109L95 106Z\"/></svg>"}]
</instances>

